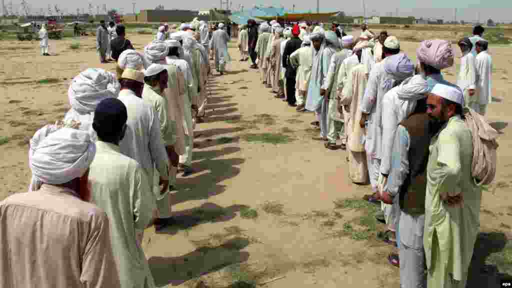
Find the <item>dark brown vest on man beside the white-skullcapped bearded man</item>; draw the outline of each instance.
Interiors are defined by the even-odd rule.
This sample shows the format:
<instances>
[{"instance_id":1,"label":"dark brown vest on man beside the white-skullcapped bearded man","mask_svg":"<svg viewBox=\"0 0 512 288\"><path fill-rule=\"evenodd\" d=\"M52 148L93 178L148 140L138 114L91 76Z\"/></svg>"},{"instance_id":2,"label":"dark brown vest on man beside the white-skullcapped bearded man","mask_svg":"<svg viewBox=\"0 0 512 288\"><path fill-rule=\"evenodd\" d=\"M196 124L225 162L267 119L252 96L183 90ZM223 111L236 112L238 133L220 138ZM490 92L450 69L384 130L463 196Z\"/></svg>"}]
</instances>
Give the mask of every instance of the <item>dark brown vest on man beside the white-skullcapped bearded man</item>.
<instances>
[{"instance_id":1,"label":"dark brown vest on man beside the white-skullcapped bearded man","mask_svg":"<svg viewBox=\"0 0 512 288\"><path fill-rule=\"evenodd\" d=\"M429 161L429 115L415 113L400 125L409 133L409 175L400 187L400 209L410 215L425 213L426 166Z\"/></svg>"}]
</instances>

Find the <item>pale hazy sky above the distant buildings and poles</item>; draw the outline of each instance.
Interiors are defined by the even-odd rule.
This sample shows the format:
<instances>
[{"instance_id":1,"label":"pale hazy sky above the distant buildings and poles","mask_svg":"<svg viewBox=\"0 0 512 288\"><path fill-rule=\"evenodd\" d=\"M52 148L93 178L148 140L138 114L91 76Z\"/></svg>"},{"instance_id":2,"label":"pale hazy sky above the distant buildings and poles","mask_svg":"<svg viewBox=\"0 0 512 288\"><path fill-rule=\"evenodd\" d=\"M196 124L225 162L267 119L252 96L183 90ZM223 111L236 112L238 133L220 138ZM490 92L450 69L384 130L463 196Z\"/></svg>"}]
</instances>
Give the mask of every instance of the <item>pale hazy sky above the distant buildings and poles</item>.
<instances>
[{"instance_id":1,"label":"pale hazy sky above the distant buildings and poles","mask_svg":"<svg viewBox=\"0 0 512 288\"><path fill-rule=\"evenodd\" d=\"M6 5L10 0L5 0ZM32 11L39 11L40 8L48 10L48 4L57 4L62 11L76 13L76 8L85 9L88 11L89 3L94 6L94 13L96 13L96 6L103 6L106 4L108 9L117 8L121 9L124 13L131 13L133 11L132 3L136 2L136 11L140 9L154 9L157 5L163 4L165 9L209 9L219 8L220 0L197 0L197 1L165 1L165 0L86 0L86 1L69 1L69 0L27 0ZM316 2L313 1L296 1L296 0L232 0L232 9L237 10L240 4L244 5L245 9L257 3L264 6L285 6L287 9L292 9L293 4L296 4L296 10L302 11L316 11ZM320 10L324 12L330 11L345 11L348 15L358 16L363 14L362 0L345 1L351 3L343 5L343 1L326 1L320 0ZM311 6L310 6L311 5ZM365 0L366 15L380 15L386 16L392 12L393 16L396 15L398 8L399 16L416 16L416 17L440 17L445 20L454 19L454 8L457 8L457 20L474 21L480 17L480 21L485 21L492 18L498 22L512 22L512 1L511 0ZM19 7L19 0L13 0L13 9ZM478 15L480 12L480 15Z\"/></svg>"}]
</instances>

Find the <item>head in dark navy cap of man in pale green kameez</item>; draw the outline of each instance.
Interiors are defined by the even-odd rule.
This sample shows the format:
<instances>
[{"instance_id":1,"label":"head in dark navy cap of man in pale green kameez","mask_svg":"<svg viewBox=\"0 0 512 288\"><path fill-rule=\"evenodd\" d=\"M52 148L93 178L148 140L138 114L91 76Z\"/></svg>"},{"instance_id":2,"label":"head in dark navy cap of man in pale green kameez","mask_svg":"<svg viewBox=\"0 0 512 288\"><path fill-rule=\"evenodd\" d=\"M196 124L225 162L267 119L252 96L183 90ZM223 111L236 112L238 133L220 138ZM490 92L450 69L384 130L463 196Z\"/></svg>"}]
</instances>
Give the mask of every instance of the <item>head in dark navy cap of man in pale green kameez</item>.
<instances>
[{"instance_id":1,"label":"head in dark navy cap of man in pale green kameez","mask_svg":"<svg viewBox=\"0 0 512 288\"><path fill-rule=\"evenodd\" d=\"M126 131L128 114L123 102L116 98L108 98L99 102L94 112L93 129L98 139L119 145Z\"/></svg>"}]
</instances>

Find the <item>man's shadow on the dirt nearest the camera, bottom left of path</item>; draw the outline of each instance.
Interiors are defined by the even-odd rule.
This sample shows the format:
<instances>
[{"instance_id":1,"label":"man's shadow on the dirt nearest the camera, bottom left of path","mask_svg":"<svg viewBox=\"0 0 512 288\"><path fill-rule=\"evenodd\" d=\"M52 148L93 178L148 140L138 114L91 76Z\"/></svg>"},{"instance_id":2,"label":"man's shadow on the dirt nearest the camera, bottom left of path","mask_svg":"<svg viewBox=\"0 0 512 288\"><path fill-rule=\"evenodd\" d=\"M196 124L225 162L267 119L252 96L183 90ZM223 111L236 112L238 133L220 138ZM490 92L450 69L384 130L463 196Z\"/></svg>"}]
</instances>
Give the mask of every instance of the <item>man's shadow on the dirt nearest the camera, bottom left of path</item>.
<instances>
[{"instance_id":1,"label":"man's shadow on the dirt nearest the camera, bottom left of path","mask_svg":"<svg viewBox=\"0 0 512 288\"><path fill-rule=\"evenodd\" d=\"M237 237L220 246L201 247L180 257L151 257L148 262L157 286L177 286L228 265L247 261L249 253L240 251L247 245L249 240Z\"/></svg>"}]
</instances>

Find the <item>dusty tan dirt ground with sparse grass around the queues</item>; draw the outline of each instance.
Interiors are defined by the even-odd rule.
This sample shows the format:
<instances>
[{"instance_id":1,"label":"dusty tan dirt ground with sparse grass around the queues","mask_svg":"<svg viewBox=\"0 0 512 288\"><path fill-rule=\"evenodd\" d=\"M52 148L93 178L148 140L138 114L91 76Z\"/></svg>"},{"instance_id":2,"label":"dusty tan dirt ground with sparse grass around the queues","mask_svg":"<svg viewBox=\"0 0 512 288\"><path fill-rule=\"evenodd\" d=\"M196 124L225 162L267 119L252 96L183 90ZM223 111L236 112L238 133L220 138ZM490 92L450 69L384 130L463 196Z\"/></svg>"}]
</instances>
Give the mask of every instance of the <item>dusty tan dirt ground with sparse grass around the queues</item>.
<instances>
[{"instance_id":1,"label":"dusty tan dirt ground with sparse grass around the queues","mask_svg":"<svg viewBox=\"0 0 512 288\"><path fill-rule=\"evenodd\" d=\"M150 35L129 38L138 49L151 41ZM80 47L71 49L75 42ZM69 81L90 67L115 68L99 64L94 37L50 40L50 45L54 56L45 57L37 42L0 42L0 199L27 191L29 139L68 111ZM239 61L234 43L230 47L229 71L211 77L206 122L196 128L197 173L180 177L173 195L179 225L145 234L158 286L194 287L203 281L208 287L251 287L273 280L266 286L398 287L399 271L387 262L394 248L376 240L385 227L375 223L372 205L357 200L370 189L348 179L346 152L313 140L319 135L309 124L313 114L295 112L274 98L258 72ZM417 43L401 47L415 60ZM512 273L507 265L512 256L504 252L512 232L507 197L512 100L506 96L512 88L512 50L489 50L495 102L488 120L503 134L497 176L482 200L485 233L476 245L471 287L494 286L488 283L495 283L495 270L482 269L492 253L503 254L500 272ZM455 68L445 75L455 80ZM262 138L267 142L257 141Z\"/></svg>"}]
</instances>

